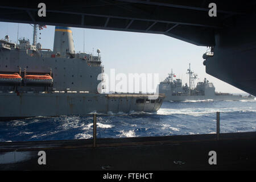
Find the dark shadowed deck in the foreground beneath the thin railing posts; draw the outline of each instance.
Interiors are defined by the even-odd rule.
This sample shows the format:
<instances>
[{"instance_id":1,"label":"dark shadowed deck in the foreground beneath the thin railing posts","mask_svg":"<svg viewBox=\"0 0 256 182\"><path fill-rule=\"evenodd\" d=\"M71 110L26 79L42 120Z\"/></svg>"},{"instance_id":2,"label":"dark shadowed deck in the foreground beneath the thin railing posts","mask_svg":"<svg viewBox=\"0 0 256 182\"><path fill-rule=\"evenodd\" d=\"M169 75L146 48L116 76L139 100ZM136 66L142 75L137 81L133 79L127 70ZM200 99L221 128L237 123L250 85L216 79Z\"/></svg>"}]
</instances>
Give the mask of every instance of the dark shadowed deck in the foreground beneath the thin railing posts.
<instances>
[{"instance_id":1,"label":"dark shadowed deck in the foreground beneath the thin railing posts","mask_svg":"<svg viewBox=\"0 0 256 182\"><path fill-rule=\"evenodd\" d=\"M46 165L38 164L42 150ZM209 151L217 152L217 165L209 165ZM0 169L251 170L256 169L255 154L256 132L220 134L219 140L216 134L97 139L96 147L92 139L6 142L0 143L0 156L9 162Z\"/></svg>"}]
</instances>

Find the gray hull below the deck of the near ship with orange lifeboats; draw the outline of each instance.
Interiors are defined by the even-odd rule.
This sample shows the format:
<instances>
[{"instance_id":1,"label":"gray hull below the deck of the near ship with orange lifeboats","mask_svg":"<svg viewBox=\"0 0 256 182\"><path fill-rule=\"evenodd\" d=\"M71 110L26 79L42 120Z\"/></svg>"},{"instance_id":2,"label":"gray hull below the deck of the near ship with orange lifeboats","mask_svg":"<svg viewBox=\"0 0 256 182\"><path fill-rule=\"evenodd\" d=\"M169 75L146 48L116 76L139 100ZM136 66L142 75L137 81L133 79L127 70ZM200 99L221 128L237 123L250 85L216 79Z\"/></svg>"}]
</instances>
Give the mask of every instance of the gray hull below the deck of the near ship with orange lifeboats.
<instances>
[{"instance_id":1,"label":"gray hull below the deck of the near ship with orange lifeboats","mask_svg":"<svg viewBox=\"0 0 256 182\"><path fill-rule=\"evenodd\" d=\"M144 101L139 102L137 100ZM91 93L0 93L0 118L86 115L89 113L154 112L164 100L159 96ZM154 103L153 103L154 102Z\"/></svg>"}]
</instances>

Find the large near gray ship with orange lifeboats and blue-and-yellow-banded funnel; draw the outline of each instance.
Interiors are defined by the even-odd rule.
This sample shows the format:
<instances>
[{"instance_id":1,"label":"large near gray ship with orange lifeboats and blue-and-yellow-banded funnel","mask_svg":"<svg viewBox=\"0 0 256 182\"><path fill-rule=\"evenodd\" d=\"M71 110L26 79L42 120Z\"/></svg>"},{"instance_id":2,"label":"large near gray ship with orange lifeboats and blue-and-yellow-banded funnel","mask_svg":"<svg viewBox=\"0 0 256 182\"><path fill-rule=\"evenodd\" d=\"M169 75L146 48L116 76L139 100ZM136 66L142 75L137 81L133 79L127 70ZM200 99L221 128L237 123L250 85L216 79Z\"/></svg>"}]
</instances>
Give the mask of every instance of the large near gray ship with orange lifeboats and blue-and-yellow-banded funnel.
<instances>
[{"instance_id":1,"label":"large near gray ship with orange lifeboats and blue-and-yellow-banded funnel","mask_svg":"<svg viewBox=\"0 0 256 182\"><path fill-rule=\"evenodd\" d=\"M0 118L85 115L90 113L154 112L164 96L98 92L104 73L98 55L76 53L70 27L55 27L53 51L36 43L9 36L0 40ZM39 29L40 30L40 29ZM103 78L102 78L103 80ZM104 88L103 88L104 89ZM151 99L152 98L152 99Z\"/></svg>"}]
</instances>

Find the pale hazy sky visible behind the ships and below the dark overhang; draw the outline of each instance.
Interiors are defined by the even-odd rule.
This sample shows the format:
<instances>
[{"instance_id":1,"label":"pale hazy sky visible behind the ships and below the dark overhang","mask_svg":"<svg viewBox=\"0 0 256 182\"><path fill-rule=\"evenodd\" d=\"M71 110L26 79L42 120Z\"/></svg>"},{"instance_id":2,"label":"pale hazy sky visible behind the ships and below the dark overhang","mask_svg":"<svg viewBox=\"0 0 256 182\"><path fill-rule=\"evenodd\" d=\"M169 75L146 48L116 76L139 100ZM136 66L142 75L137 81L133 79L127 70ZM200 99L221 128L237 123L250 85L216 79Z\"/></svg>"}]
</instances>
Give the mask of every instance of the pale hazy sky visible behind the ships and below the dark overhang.
<instances>
[{"instance_id":1,"label":"pale hazy sky visible behind the ships and below the dark overhang","mask_svg":"<svg viewBox=\"0 0 256 182\"><path fill-rule=\"evenodd\" d=\"M1 39L9 35L10 40L16 42L18 23L0 22L0 27ZM38 31L38 42L43 48L53 49L54 32L54 26L47 26ZM72 32L76 52L83 52L84 43L87 53L92 53L94 49L94 55L97 55L96 50L100 48L102 64L105 73L109 75L110 69L114 68L116 74L159 73L160 81L163 81L173 69L176 78L181 78L185 84L189 80L186 72L188 64L191 63L192 71L199 76L196 82L207 78L213 82L217 92L245 93L205 73L202 55L207 51L207 47L195 46L158 34L89 28L72 28ZM32 44L32 34L33 28L30 24L19 23L19 38L28 38Z\"/></svg>"}]
</instances>

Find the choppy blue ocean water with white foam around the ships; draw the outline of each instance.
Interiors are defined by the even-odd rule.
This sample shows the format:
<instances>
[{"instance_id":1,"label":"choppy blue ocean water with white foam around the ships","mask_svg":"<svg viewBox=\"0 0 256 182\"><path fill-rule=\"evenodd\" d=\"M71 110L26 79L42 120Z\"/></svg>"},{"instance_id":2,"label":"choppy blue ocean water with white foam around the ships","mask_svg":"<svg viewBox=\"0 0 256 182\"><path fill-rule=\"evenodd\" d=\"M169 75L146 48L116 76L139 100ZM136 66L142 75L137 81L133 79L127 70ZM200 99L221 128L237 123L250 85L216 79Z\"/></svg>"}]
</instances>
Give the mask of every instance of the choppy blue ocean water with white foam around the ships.
<instances>
[{"instance_id":1,"label":"choppy blue ocean water with white foam around the ships","mask_svg":"<svg viewBox=\"0 0 256 182\"><path fill-rule=\"evenodd\" d=\"M97 137L152 137L256 131L256 100L164 102L156 113L98 114ZM88 139L92 115L36 117L0 122L0 142Z\"/></svg>"}]
</instances>

